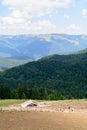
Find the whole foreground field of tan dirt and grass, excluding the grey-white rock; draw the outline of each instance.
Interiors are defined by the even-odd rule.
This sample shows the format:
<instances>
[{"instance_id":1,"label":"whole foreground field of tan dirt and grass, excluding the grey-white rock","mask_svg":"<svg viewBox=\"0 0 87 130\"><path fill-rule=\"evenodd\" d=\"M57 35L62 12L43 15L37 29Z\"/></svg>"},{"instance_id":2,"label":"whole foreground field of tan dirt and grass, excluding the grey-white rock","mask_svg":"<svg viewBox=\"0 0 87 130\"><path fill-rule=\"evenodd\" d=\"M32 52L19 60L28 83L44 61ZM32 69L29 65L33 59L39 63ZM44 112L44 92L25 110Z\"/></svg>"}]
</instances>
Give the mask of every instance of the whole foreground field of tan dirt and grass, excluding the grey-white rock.
<instances>
[{"instance_id":1,"label":"whole foreground field of tan dirt and grass, excluding the grey-white rock","mask_svg":"<svg viewBox=\"0 0 87 130\"><path fill-rule=\"evenodd\" d=\"M87 130L87 100L24 101L0 100L0 130Z\"/></svg>"}]
</instances>

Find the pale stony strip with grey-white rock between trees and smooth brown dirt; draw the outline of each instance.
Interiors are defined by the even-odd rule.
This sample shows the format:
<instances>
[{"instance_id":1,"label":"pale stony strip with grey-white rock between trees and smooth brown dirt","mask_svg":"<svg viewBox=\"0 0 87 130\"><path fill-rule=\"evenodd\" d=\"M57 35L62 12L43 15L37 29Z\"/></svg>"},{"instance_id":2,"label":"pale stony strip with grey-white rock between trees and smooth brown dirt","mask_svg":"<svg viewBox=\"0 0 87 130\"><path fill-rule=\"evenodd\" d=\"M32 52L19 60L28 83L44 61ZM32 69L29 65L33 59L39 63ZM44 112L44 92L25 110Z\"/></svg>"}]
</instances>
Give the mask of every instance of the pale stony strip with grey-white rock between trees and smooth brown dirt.
<instances>
[{"instance_id":1,"label":"pale stony strip with grey-white rock between trees and smooth brown dirt","mask_svg":"<svg viewBox=\"0 0 87 130\"><path fill-rule=\"evenodd\" d=\"M87 113L87 101L86 100L65 100L65 101L28 100L19 105L15 104L9 107L2 107L0 108L0 110Z\"/></svg>"}]
</instances>

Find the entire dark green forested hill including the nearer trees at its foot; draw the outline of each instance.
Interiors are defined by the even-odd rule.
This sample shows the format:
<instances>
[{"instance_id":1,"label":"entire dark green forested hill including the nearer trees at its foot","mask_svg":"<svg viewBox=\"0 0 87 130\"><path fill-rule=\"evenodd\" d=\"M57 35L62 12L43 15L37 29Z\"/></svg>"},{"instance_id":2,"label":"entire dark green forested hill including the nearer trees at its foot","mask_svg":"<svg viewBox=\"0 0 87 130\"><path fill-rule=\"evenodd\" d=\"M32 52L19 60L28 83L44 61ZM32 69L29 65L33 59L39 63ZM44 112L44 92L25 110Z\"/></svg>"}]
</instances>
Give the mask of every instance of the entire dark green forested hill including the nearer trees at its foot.
<instances>
[{"instance_id":1,"label":"entire dark green forested hill including the nearer trees at its foot","mask_svg":"<svg viewBox=\"0 0 87 130\"><path fill-rule=\"evenodd\" d=\"M87 98L87 53L48 56L1 72L0 98Z\"/></svg>"}]
</instances>

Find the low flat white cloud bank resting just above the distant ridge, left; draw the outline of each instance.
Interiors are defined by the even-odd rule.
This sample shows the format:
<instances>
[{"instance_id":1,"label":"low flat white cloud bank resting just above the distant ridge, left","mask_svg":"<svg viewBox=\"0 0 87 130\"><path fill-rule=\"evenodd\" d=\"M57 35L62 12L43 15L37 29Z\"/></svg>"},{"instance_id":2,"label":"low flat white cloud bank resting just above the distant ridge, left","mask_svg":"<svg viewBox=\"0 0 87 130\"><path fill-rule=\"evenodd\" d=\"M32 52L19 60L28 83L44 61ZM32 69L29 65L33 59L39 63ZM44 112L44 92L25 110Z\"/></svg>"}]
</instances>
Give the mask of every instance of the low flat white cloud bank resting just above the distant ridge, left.
<instances>
[{"instance_id":1,"label":"low flat white cloud bank resting just above the distant ridge, left","mask_svg":"<svg viewBox=\"0 0 87 130\"><path fill-rule=\"evenodd\" d=\"M10 19L9 19L10 20ZM13 35L18 35L18 34L43 34L45 33L50 33L51 31L55 30L55 25L52 24L50 21L38 21L38 22L24 22L18 25L16 24L4 24L4 26L0 25L0 34L13 34Z\"/></svg>"}]
</instances>

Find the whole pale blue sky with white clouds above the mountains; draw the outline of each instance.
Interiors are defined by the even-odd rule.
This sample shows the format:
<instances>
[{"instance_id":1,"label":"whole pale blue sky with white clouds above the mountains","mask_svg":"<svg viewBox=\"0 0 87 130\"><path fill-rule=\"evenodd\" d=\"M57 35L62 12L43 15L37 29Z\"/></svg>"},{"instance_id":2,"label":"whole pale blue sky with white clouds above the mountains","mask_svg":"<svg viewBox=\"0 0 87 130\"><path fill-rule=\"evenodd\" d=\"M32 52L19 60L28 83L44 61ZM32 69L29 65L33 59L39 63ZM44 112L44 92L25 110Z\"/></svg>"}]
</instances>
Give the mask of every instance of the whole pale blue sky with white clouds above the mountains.
<instances>
[{"instance_id":1,"label":"whole pale blue sky with white clouds above the mountains","mask_svg":"<svg viewBox=\"0 0 87 130\"><path fill-rule=\"evenodd\" d=\"M87 0L0 0L0 34L85 34Z\"/></svg>"}]
</instances>

